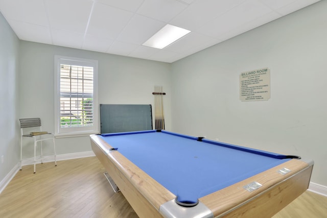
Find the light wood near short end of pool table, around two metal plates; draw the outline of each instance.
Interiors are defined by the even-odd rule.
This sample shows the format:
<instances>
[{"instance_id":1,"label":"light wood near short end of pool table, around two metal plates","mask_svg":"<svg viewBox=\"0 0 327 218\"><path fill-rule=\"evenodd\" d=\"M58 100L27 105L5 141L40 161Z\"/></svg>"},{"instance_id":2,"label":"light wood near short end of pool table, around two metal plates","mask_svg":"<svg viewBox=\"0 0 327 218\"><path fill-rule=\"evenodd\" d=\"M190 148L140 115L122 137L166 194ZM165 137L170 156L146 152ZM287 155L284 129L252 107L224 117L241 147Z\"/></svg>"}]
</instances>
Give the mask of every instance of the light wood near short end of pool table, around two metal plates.
<instances>
[{"instance_id":1,"label":"light wood near short end of pool table, around two metal plates","mask_svg":"<svg viewBox=\"0 0 327 218\"><path fill-rule=\"evenodd\" d=\"M291 169L286 175L281 168ZM218 190L199 199L215 217L271 217L308 189L313 162L292 159L267 171ZM253 181L262 186L248 192L243 188ZM260 193L258 194L258 191Z\"/></svg>"}]
</instances>

